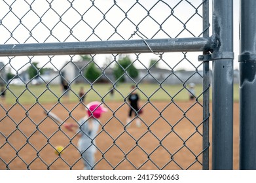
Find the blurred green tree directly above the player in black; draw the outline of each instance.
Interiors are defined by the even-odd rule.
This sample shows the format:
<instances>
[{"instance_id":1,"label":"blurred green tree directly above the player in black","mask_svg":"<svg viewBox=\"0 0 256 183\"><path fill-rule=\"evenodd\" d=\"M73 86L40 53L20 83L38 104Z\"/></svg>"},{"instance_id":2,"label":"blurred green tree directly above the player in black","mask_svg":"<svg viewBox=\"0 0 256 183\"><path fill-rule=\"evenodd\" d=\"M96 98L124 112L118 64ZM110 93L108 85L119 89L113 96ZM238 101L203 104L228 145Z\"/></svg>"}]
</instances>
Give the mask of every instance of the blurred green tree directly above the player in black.
<instances>
[{"instance_id":1,"label":"blurred green tree directly above the player in black","mask_svg":"<svg viewBox=\"0 0 256 183\"><path fill-rule=\"evenodd\" d=\"M119 82L124 82L125 71L128 73L128 75L131 78L137 78L137 76L139 75L139 71L132 64L132 61L128 56L125 56L124 58L119 59L119 63L115 65L114 76L116 80L119 80Z\"/></svg>"}]
</instances>

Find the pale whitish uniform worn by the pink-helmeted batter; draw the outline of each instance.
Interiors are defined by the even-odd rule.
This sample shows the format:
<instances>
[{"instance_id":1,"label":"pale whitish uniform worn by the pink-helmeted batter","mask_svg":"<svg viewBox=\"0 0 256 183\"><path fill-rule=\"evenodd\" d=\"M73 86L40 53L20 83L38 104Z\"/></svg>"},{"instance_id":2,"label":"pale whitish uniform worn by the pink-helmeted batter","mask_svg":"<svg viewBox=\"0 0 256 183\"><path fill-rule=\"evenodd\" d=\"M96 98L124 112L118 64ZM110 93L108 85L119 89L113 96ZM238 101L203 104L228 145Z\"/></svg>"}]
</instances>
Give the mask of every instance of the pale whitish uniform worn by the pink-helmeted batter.
<instances>
[{"instance_id":1,"label":"pale whitish uniform worn by the pink-helmeted batter","mask_svg":"<svg viewBox=\"0 0 256 183\"><path fill-rule=\"evenodd\" d=\"M92 129L89 127L89 122L92 122ZM87 116L79 120L79 128L77 133L81 135L78 141L78 148L84 161L84 169L93 169L95 164L94 154L96 153L95 137L98 133L100 122L95 118L88 119Z\"/></svg>"}]
</instances>

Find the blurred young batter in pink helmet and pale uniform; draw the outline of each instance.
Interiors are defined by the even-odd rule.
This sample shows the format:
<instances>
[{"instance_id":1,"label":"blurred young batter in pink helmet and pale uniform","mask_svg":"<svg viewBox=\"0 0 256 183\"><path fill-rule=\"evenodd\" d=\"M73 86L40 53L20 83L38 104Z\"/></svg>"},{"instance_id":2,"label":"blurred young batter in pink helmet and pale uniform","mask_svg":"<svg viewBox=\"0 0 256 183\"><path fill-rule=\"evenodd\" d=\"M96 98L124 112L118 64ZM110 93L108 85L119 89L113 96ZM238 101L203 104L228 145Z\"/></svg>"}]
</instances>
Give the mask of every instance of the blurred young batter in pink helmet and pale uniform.
<instances>
[{"instance_id":1,"label":"blurred young batter in pink helmet and pale uniform","mask_svg":"<svg viewBox=\"0 0 256 183\"><path fill-rule=\"evenodd\" d=\"M100 102L94 101L86 105L86 116L79 120L79 125L65 124L64 127L69 131L73 131L73 127L77 128L79 136L78 148L84 161L84 169L92 170L95 165L94 154L96 153L95 137L100 127L99 118L103 112L107 112L107 108L103 107Z\"/></svg>"}]
</instances>

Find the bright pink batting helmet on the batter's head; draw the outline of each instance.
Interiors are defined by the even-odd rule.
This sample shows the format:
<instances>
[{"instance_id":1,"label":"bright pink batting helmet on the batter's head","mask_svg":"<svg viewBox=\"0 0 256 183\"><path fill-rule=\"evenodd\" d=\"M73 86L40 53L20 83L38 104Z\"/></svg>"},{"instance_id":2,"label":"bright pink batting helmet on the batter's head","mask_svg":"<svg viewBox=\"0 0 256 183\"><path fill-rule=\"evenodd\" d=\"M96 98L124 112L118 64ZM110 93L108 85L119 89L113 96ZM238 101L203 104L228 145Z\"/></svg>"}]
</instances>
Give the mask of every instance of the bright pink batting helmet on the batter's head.
<instances>
[{"instance_id":1,"label":"bright pink batting helmet on the batter's head","mask_svg":"<svg viewBox=\"0 0 256 183\"><path fill-rule=\"evenodd\" d=\"M86 107L88 116L93 116L97 119L100 118L102 112L107 112L107 108L103 107L103 105L98 101L88 103Z\"/></svg>"}]
</instances>

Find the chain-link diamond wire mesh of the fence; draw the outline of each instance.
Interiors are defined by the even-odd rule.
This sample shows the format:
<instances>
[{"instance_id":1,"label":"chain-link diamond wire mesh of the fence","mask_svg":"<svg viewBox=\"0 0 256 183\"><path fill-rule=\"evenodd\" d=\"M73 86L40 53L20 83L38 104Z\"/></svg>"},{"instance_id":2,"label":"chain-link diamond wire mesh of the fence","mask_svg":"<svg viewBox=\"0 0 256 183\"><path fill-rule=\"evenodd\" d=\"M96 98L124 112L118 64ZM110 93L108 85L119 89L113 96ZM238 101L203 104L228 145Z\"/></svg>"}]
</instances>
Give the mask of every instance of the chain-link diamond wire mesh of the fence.
<instances>
[{"instance_id":1,"label":"chain-link diamond wire mesh of the fence","mask_svg":"<svg viewBox=\"0 0 256 183\"><path fill-rule=\"evenodd\" d=\"M0 1L0 43L202 37L208 29L200 23L203 3L208 1ZM202 148L203 124L209 118L207 111L203 118L202 99L209 84L203 86L200 53L151 51L0 58L1 96L5 93L0 106L0 169L82 169L79 135L64 125L78 125L90 101L108 109L92 139L93 168L202 169L208 149ZM124 59L130 60L125 67L120 63ZM137 77L129 69L134 66ZM118 70L122 72L115 76ZM63 81L68 83L66 92ZM141 99L139 127L135 117L126 124L131 85ZM189 101L189 93L194 100ZM54 112L62 123L44 112ZM54 154L58 145L64 147L62 154Z\"/></svg>"}]
</instances>

